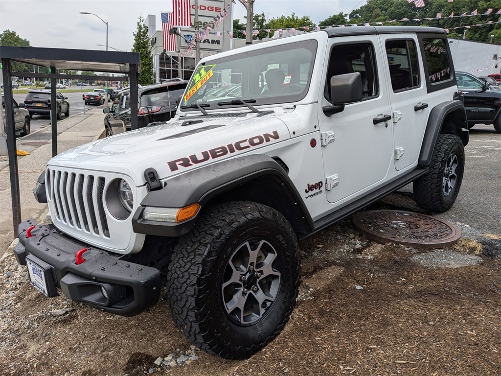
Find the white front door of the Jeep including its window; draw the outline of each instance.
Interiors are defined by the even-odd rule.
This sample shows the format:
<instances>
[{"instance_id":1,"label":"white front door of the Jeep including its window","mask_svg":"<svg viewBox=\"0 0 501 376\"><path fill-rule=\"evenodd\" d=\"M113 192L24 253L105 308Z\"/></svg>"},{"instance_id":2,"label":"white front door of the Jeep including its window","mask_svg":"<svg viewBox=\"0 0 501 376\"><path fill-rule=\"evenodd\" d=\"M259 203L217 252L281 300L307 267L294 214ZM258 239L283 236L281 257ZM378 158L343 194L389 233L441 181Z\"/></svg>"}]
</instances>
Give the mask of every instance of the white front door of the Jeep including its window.
<instances>
[{"instance_id":1,"label":"white front door of the Jeep including its window","mask_svg":"<svg viewBox=\"0 0 501 376\"><path fill-rule=\"evenodd\" d=\"M322 150L326 177L337 175L339 181L327 191L328 201L335 203L354 200L359 196L354 193L383 180L392 163L393 147L391 120L376 124L374 120L391 114L379 68L384 61L380 51L374 52L379 49L377 37L367 36L357 44L349 38L333 38L331 46L326 81L334 75L360 72L363 91L363 99L347 104L342 112L326 116L322 108L319 111L321 133L331 132L334 139ZM332 104L327 91L322 106Z\"/></svg>"}]
</instances>

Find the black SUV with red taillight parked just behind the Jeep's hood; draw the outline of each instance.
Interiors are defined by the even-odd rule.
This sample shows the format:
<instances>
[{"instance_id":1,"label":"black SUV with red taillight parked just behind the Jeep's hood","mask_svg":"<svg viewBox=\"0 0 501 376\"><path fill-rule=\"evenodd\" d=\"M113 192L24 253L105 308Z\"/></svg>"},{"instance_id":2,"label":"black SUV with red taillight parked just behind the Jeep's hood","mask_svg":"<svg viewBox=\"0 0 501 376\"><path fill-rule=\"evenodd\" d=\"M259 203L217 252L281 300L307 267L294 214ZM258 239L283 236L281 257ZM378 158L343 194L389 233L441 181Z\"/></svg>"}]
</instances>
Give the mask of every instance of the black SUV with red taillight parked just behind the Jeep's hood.
<instances>
[{"instance_id":1,"label":"black SUV with red taillight parked just behind the Jeep's hood","mask_svg":"<svg viewBox=\"0 0 501 376\"><path fill-rule=\"evenodd\" d=\"M174 116L178 99L183 95L187 81L172 79L161 84L143 86L138 90L139 110L137 127L143 128L149 123L170 120ZM103 112L106 136L122 133L131 129L130 125L130 90L122 90L110 107Z\"/></svg>"}]
</instances>

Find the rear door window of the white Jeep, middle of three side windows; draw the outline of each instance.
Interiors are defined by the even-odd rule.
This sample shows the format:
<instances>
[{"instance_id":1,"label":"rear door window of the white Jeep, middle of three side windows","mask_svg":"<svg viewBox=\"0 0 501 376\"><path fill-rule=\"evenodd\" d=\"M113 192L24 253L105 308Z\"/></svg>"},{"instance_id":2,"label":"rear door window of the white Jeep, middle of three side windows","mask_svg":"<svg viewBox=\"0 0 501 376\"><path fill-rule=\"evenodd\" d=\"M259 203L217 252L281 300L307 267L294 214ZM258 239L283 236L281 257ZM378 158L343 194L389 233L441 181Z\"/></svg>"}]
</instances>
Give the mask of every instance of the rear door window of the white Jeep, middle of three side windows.
<instances>
[{"instance_id":1,"label":"rear door window of the white Jeep, middle of three side windows","mask_svg":"<svg viewBox=\"0 0 501 376\"><path fill-rule=\"evenodd\" d=\"M419 86L419 70L414 41L387 41L386 58L388 59L393 91Z\"/></svg>"}]
</instances>

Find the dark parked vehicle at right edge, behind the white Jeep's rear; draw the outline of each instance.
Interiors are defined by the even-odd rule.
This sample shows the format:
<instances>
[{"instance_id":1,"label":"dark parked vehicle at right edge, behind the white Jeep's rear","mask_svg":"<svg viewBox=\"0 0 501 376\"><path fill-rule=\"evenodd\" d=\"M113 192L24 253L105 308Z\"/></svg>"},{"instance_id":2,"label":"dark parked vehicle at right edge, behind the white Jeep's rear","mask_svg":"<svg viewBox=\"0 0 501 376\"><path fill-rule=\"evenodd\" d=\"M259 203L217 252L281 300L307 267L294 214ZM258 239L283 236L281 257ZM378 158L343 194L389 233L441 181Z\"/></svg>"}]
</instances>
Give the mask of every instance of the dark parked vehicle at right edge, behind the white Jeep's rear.
<instances>
[{"instance_id":1,"label":"dark parked vehicle at right edge, behind the white Jeep's rear","mask_svg":"<svg viewBox=\"0 0 501 376\"><path fill-rule=\"evenodd\" d=\"M501 133L501 90L466 72L456 72L456 82L464 98L468 128L493 124Z\"/></svg>"}]
</instances>

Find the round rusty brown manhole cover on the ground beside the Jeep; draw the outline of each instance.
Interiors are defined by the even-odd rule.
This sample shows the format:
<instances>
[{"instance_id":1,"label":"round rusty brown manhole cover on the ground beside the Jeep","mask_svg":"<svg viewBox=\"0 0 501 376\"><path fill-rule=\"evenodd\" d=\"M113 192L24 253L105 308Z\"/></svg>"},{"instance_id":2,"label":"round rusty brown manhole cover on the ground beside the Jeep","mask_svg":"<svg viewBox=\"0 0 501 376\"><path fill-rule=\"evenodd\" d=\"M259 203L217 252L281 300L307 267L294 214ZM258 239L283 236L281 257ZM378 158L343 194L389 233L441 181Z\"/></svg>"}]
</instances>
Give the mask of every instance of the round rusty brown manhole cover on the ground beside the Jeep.
<instances>
[{"instance_id":1,"label":"round rusty brown manhole cover on the ground beside the Jeep","mask_svg":"<svg viewBox=\"0 0 501 376\"><path fill-rule=\"evenodd\" d=\"M355 227L370 240L388 241L411 247L447 246L461 237L461 231L447 221L400 210L373 210L357 214Z\"/></svg>"}]
</instances>

